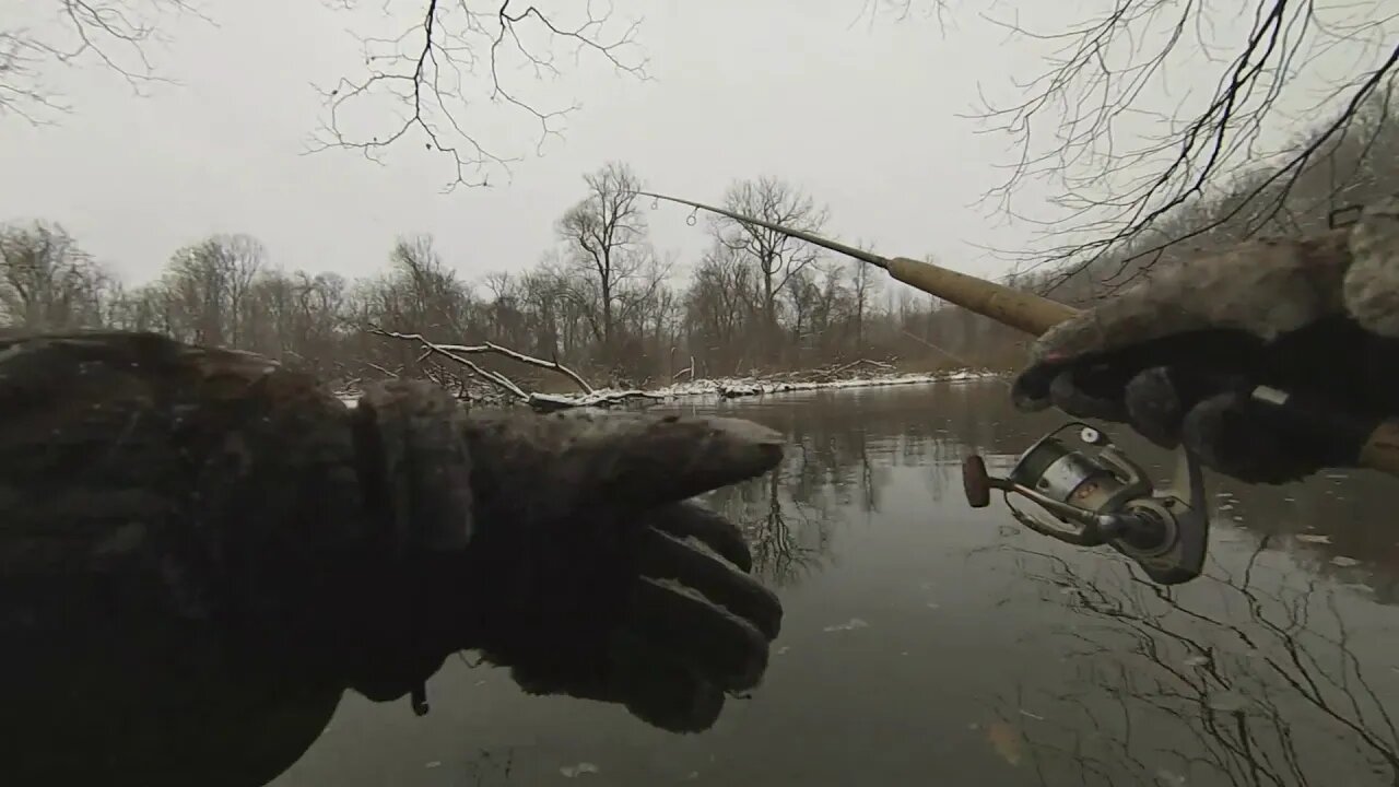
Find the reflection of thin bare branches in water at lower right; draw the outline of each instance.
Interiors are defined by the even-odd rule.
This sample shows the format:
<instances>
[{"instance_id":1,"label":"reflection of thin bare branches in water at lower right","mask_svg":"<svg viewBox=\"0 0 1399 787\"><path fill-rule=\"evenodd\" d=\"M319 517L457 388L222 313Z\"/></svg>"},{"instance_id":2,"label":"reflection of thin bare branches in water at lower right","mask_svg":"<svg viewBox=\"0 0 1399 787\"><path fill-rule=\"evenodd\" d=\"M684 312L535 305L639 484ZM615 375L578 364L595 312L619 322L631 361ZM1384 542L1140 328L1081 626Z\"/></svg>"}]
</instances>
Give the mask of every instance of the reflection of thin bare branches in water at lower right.
<instances>
[{"instance_id":1,"label":"reflection of thin bare branches in water at lower right","mask_svg":"<svg viewBox=\"0 0 1399 787\"><path fill-rule=\"evenodd\" d=\"M1052 690L1017 686L999 709L1041 783L1399 784L1399 732L1382 699L1395 696L1392 668L1371 674L1399 644L1379 627L1392 616L1367 615L1367 601L1270 541L1184 588L1125 562L1084 569L996 548L1066 613L1031 636L1056 640L1041 644L1070 678Z\"/></svg>"}]
</instances>

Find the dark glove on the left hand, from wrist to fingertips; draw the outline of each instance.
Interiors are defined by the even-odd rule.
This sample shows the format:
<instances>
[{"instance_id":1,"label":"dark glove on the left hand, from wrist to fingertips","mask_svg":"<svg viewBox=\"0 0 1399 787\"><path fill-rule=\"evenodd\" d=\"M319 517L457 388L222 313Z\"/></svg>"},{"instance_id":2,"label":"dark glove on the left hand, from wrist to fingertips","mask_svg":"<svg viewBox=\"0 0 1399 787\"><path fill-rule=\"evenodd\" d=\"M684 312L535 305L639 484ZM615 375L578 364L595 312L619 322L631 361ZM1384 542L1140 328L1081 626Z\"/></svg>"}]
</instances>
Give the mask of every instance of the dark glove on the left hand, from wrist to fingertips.
<instances>
[{"instance_id":1,"label":"dark glove on the left hand, from wrist to fingertips","mask_svg":"<svg viewBox=\"0 0 1399 787\"><path fill-rule=\"evenodd\" d=\"M431 609L417 634L441 643L429 660L478 650L532 693L623 703L670 731L708 728L727 692L758 683L782 608L748 576L741 532L688 499L771 469L776 433L734 419L463 410L420 382L371 391L355 417L372 436L361 443L378 443L368 454L389 459L375 475L397 487L371 500L407 504L397 521L436 563L410 605Z\"/></svg>"}]
</instances>

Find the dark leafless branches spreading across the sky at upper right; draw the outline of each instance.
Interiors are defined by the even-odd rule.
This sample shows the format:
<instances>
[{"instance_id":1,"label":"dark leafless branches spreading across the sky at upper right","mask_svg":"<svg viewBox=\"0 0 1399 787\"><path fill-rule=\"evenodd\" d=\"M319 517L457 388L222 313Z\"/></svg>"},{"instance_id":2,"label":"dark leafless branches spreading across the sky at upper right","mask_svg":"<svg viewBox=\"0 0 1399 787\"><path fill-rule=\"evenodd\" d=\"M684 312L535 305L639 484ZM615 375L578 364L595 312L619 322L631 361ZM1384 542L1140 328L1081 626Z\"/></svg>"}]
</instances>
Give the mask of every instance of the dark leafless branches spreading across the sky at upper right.
<instances>
[{"instance_id":1,"label":"dark leafless branches spreading across the sky at upper right","mask_svg":"<svg viewBox=\"0 0 1399 787\"><path fill-rule=\"evenodd\" d=\"M1140 273L1165 249L1224 223L1244 224L1235 239L1263 230L1284 211L1291 185L1351 130L1358 108L1388 90L1399 63L1391 31L1395 15L1374 1L1322 7L1256 0L1244 39L1226 43L1212 39L1223 6L1203 0L1108 6L1101 17L1062 32L999 21L1018 42L1055 48L1052 67L1017 85L1023 99L999 108L988 101L977 115L1018 148L1007 179L986 199L1007 216L1039 225L1049 241L1030 251L989 251L1025 263L1023 272L1056 269L1049 288L1108 259ZM1358 53L1356 66L1318 102L1340 105L1336 120L1300 141L1266 143L1279 120L1314 122L1316 108L1284 116L1284 88L1340 46ZM1153 91L1171 94L1170 67L1185 60L1196 69L1206 62L1220 66L1221 77L1203 106L1171 113L1147 104ZM1182 105L1191 102L1191 85L1174 87L1185 94ZM1053 129L1052 144L1039 151L1045 127ZM1259 178L1263 161L1276 164ZM1172 224L1182 210L1217 197L1241 178L1251 182L1242 193L1235 189L1231 210L1189 227ZM1055 214L1035 218L1013 209L1011 196L1031 181L1051 183Z\"/></svg>"}]
</instances>

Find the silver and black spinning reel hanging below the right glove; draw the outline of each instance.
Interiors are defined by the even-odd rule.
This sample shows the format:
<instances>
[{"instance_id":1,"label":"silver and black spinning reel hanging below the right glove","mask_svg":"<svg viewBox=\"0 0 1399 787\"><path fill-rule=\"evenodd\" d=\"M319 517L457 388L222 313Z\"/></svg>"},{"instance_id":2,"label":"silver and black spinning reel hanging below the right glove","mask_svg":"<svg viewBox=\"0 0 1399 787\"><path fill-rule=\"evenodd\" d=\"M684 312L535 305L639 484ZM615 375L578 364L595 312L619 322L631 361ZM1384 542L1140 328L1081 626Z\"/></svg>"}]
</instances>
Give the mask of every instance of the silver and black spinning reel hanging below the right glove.
<instances>
[{"instance_id":1,"label":"silver and black spinning reel hanging below the right glove","mask_svg":"<svg viewBox=\"0 0 1399 787\"><path fill-rule=\"evenodd\" d=\"M1079 429L1076 441L1060 437L1073 427ZM972 508L989 506L990 490L999 489L1021 525L1074 546L1107 543L1163 585L1188 583L1205 567L1205 483L1199 462L1185 448L1177 450L1171 487L1158 492L1107 434L1073 422L1039 438L1004 478L989 475L981 457L967 457L963 489ZM1039 511L1017 508L1011 493Z\"/></svg>"}]
</instances>

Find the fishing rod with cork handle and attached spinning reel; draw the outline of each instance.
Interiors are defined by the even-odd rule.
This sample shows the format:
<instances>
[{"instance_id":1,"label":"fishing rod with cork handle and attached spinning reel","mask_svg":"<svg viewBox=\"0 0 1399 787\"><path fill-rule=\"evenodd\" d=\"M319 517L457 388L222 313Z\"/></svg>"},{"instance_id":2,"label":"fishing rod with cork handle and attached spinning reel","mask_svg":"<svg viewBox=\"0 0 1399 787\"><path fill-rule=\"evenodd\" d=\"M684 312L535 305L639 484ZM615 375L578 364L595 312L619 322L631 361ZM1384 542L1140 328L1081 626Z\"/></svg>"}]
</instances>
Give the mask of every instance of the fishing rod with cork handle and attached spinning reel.
<instances>
[{"instance_id":1,"label":"fishing rod with cork handle and attached spinning reel","mask_svg":"<svg viewBox=\"0 0 1399 787\"><path fill-rule=\"evenodd\" d=\"M1041 336L1079 314L1067 304L940 265L880 256L702 202L656 192L637 193L762 227L858 259L929 295L1031 336ZM1372 427L1357 424L1344 416L1318 413L1287 392L1263 385L1252 391L1252 398L1315 429L1367 434L1358 447L1357 464L1399 476L1399 422L1381 422ZM1070 430L1076 430L1072 437ZM992 490L999 490L1011 515L1024 527L1074 546L1108 545L1135 560L1153 581L1181 584L1199 577L1205 567L1209 511L1199 459L1184 445L1175 450L1175 455L1171 483L1157 489L1146 471L1114 445L1107 434L1083 422L1072 422L1035 441L1004 476L992 476L982 457L967 457L963 462L963 490L974 508L989 506ZM1011 494L1035 503L1038 511L1017 508Z\"/></svg>"}]
</instances>

